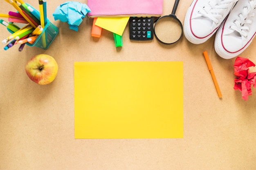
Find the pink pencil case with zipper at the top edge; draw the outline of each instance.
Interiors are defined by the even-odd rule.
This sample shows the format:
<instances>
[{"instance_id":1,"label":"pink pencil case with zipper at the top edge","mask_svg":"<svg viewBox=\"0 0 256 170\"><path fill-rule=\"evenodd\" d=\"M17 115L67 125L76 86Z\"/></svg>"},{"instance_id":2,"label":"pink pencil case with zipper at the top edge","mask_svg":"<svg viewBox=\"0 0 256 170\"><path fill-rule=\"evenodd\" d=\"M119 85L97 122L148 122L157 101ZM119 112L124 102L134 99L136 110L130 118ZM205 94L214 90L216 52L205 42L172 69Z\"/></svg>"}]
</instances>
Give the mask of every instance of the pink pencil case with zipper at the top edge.
<instances>
[{"instance_id":1,"label":"pink pencil case with zipper at the top edge","mask_svg":"<svg viewBox=\"0 0 256 170\"><path fill-rule=\"evenodd\" d=\"M155 16L163 11L163 0L87 0L90 18L114 16Z\"/></svg>"}]
</instances>

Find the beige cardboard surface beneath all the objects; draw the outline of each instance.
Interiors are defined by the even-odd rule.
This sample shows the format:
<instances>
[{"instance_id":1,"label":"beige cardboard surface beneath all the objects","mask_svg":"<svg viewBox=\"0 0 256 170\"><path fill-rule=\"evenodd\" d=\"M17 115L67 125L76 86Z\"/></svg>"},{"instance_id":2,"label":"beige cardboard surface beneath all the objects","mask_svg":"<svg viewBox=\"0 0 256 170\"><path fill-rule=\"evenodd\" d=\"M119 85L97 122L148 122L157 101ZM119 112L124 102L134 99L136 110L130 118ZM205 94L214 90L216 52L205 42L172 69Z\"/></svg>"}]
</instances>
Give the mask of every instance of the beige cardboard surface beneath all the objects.
<instances>
[{"instance_id":1,"label":"beige cardboard surface beneath all the objects","mask_svg":"<svg viewBox=\"0 0 256 170\"><path fill-rule=\"evenodd\" d=\"M192 1L192 0L191 0ZM182 22L191 1L181 0L176 15ZM38 2L26 0L36 9ZM234 86L234 59L225 60L214 50L214 36L191 44L183 36L175 45L131 42L129 29L123 47L116 48L112 33L100 39L90 35L92 19L79 31L54 21L52 13L65 0L47 2L48 18L59 28L49 49L18 46L0 48L0 170L255 170L256 90L248 101ZM80 0L87 3L86 0ZM174 0L164 0L163 15ZM15 10L2 1L0 13ZM9 32L0 26L3 40ZM256 40L241 57L256 63ZM207 51L221 92L218 98L203 51ZM59 66L51 84L35 84L25 73L34 55L53 56ZM184 138L182 139L74 139L75 61L183 61ZM252 69L253 70L253 69ZM254 68L255 71L255 68Z\"/></svg>"}]
</instances>

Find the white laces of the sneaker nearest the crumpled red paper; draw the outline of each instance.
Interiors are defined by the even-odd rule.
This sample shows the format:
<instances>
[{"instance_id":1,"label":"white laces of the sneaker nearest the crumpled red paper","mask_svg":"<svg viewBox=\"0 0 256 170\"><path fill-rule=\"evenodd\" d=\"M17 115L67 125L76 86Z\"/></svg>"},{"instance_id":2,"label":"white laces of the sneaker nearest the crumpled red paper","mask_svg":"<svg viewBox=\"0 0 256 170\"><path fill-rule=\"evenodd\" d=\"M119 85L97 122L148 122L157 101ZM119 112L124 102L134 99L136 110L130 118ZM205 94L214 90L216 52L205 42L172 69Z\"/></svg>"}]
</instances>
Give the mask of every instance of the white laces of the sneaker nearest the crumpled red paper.
<instances>
[{"instance_id":1,"label":"white laces of the sneaker nearest the crumpled red paper","mask_svg":"<svg viewBox=\"0 0 256 170\"><path fill-rule=\"evenodd\" d=\"M256 0L250 0L249 4L250 7L243 7L243 12L238 14L239 20L234 20L235 25L229 26L230 29L237 31L245 38L248 38L248 32L250 31L248 24L252 24L252 20L249 20L248 17L255 16L253 10L256 8Z\"/></svg>"}]
</instances>

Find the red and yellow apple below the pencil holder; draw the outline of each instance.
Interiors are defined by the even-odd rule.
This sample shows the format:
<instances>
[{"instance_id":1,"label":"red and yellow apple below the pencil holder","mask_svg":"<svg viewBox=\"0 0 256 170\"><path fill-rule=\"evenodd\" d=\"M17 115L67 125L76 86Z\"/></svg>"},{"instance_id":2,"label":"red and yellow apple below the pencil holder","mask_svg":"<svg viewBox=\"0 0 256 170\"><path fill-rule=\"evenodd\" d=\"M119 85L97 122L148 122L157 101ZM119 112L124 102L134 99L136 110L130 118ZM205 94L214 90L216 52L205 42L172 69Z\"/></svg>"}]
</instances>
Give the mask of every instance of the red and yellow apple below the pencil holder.
<instances>
[{"instance_id":1,"label":"red and yellow apple below the pencil holder","mask_svg":"<svg viewBox=\"0 0 256 170\"><path fill-rule=\"evenodd\" d=\"M33 82L37 84L49 84L57 75L58 64L52 56L39 54L27 62L25 70Z\"/></svg>"}]
</instances>

